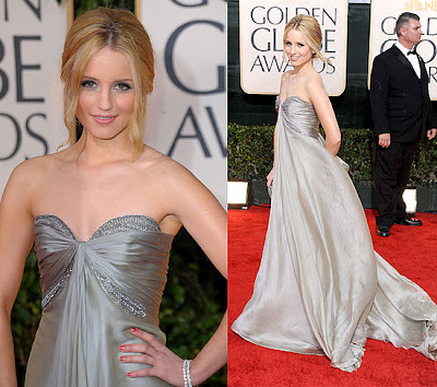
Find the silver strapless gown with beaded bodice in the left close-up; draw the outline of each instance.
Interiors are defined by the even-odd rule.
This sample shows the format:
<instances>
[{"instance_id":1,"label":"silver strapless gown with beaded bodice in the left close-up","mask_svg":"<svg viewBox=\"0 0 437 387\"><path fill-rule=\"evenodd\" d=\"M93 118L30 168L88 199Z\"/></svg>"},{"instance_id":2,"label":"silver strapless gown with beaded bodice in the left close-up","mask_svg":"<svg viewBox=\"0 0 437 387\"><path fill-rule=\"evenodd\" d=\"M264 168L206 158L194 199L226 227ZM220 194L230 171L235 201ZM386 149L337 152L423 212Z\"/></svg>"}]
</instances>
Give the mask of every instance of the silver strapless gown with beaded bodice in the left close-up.
<instances>
[{"instance_id":1,"label":"silver strapless gown with beaded bodice in the left close-up","mask_svg":"<svg viewBox=\"0 0 437 387\"><path fill-rule=\"evenodd\" d=\"M26 371L28 387L168 386L128 378L122 343L141 342L132 327L163 343L157 313L173 236L143 215L115 218L79 242L55 215L35 220L43 317Z\"/></svg>"}]
</instances>

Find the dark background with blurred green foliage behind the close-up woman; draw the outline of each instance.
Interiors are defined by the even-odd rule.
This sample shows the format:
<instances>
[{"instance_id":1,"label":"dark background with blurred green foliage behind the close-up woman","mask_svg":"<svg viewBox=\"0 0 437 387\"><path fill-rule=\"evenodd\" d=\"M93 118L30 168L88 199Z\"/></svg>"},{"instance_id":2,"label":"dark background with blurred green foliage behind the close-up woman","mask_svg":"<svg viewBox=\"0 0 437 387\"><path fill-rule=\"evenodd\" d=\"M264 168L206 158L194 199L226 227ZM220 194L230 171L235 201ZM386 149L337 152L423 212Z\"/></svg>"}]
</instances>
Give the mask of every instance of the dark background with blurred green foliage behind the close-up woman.
<instances>
[{"instance_id":1,"label":"dark background with blurred green foliage behind the close-up woman","mask_svg":"<svg viewBox=\"0 0 437 387\"><path fill-rule=\"evenodd\" d=\"M64 0L56 1L61 3ZM74 14L99 5L133 11L134 0L74 0ZM32 250L12 310L19 386L24 385L28 353L40 319L40 300L37 258ZM226 281L182 228L173 243L168 281L160 313L161 329L167 335L167 345L179 356L192 359L217 328L225 308ZM226 386L226 380L224 367L203 385Z\"/></svg>"}]
</instances>

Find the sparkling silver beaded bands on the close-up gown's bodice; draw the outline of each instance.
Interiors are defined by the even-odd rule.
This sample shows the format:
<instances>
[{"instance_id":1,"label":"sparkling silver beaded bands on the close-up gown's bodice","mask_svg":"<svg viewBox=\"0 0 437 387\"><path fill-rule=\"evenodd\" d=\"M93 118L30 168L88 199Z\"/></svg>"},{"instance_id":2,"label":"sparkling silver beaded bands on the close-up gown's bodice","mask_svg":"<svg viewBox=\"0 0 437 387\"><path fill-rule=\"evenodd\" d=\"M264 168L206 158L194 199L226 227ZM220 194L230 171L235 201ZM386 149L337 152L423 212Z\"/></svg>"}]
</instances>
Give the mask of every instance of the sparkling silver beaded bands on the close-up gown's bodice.
<instances>
[{"instance_id":1,"label":"sparkling silver beaded bands on the close-up gown's bodice","mask_svg":"<svg viewBox=\"0 0 437 387\"><path fill-rule=\"evenodd\" d=\"M61 235L76 241L74 233L71 228L58 216L56 215L39 215L35 219L35 225L46 225L56 230ZM111 235L116 233L127 232L127 231L142 231L142 232L161 232L160 225L152 218L145 215L122 215L114 218L103 225L101 225L94 234L91 236L90 241L96 239L105 235ZM86 243L86 242L85 242ZM43 309L50 306L52 301L62 292L63 288L68 283L72 270L74 267L73 259L71 260L67 270L59 277L59 279L45 292L42 301ZM94 275L101 283L103 290L110 296L110 298L118 305L120 305L125 310L129 312L135 317L143 318L146 316L144 305L135 300L132 295L128 294L115 282L108 279L105 274L99 272L91 265Z\"/></svg>"}]
</instances>

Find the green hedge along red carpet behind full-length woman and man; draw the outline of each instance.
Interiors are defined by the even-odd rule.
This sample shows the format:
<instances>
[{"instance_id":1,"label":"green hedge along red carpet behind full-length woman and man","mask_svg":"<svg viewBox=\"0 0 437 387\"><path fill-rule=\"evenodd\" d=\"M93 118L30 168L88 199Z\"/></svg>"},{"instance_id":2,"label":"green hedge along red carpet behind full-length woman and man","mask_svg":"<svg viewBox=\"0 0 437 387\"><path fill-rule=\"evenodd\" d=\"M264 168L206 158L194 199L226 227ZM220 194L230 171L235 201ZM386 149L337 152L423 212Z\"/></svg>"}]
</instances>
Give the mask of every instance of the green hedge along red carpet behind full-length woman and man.
<instances>
[{"instance_id":1,"label":"green hedge along red carpet behind full-length woman and man","mask_svg":"<svg viewBox=\"0 0 437 387\"><path fill-rule=\"evenodd\" d=\"M264 178L273 163L273 126L229 124L227 165L231 179ZM416 187L437 186L437 139L421 143L413 161L410 181ZM355 184L374 180L374 132L370 129L342 129L339 156L351 166Z\"/></svg>"}]
</instances>

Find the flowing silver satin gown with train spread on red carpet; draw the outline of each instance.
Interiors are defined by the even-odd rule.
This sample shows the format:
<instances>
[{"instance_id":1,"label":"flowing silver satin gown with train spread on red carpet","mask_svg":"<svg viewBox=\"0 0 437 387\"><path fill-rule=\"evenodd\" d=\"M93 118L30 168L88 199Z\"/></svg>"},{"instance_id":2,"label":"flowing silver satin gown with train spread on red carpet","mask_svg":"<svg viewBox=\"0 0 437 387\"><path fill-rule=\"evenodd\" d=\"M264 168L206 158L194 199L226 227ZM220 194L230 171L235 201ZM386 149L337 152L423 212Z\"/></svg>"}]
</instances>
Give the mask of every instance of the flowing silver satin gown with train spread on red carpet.
<instances>
[{"instance_id":1,"label":"flowing silver satin gown with train spread on red carpet","mask_svg":"<svg viewBox=\"0 0 437 387\"><path fill-rule=\"evenodd\" d=\"M437 357L437 306L374 251L342 162L311 104L280 107L269 228L253 294L232 329L258 345L359 367L366 337Z\"/></svg>"}]
</instances>

